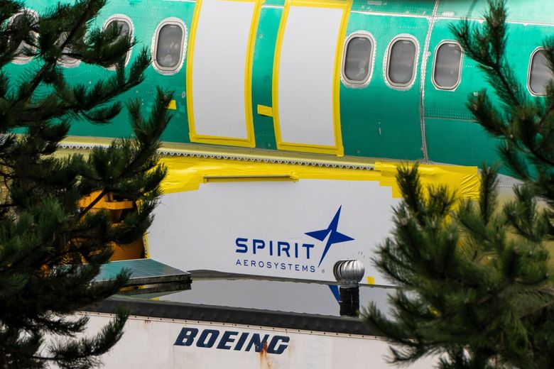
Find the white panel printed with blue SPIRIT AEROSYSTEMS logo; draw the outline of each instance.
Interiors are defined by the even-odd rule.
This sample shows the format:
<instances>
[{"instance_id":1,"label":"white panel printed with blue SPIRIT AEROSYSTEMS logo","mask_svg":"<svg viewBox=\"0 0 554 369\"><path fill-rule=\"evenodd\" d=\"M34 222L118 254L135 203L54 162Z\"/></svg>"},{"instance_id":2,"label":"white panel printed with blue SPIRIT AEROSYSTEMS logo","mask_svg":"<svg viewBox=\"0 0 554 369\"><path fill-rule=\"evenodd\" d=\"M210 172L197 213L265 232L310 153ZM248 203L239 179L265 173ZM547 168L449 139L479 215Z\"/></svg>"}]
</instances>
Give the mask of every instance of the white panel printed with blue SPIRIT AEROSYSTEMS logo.
<instances>
[{"instance_id":1,"label":"white panel printed with blue SPIRIT AEROSYSTEMS logo","mask_svg":"<svg viewBox=\"0 0 554 369\"><path fill-rule=\"evenodd\" d=\"M181 270L321 281L335 280L337 260L357 259L366 276L386 285L371 258L389 235L396 204L391 188L376 181L210 182L161 198L148 233L149 252ZM327 229L339 208L337 231L354 240L332 244L319 265L329 235L318 241L305 233ZM244 248L237 238L248 239L248 252L239 252ZM253 239L264 241L256 253ZM288 255L278 255L278 241L290 245Z\"/></svg>"}]
</instances>

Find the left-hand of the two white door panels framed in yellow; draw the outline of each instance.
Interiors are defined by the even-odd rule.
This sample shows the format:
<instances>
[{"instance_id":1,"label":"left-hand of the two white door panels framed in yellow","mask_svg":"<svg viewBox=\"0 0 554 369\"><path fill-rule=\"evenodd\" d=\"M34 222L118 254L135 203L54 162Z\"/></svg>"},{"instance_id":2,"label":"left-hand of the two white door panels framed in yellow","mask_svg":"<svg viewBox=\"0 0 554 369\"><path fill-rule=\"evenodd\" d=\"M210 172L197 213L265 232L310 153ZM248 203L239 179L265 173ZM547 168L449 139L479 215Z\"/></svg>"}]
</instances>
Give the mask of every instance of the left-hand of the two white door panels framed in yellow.
<instances>
[{"instance_id":1,"label":"left-hand of the two white door panels framed in yellow","mask_svg":"<svg viewBox=\"0 0 554 369\"><path fill-rule=\"evenodd\" d=\"M247 138L244 78L253 15L253 1L202 0L192 59L198 135Z\"/></svg>"}]
</instances>

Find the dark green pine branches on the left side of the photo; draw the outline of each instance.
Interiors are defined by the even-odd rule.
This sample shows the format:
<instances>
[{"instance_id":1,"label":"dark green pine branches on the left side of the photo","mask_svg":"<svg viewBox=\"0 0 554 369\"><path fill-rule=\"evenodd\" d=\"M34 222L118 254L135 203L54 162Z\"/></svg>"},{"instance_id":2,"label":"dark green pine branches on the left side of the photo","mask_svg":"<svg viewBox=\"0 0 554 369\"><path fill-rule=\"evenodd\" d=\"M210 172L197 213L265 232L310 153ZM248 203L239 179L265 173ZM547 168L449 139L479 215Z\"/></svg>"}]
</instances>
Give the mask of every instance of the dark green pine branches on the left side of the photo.
<instances>
[{"instance_id":1,"label":"dark green pine branches on the left side of the photo","mask_svg":"<svg viewBox=\"0 0 554 369\"><path fill-rule=\"evenodd\" d=\"M126 313L96 336L83 337L87 319L73 315L116 293L122 272L91 284L112 255L110 244L130 243L151 224L165 168L156 150L170 116L173 94L158 90L149 116L139 101L126 108L134 131L87 155L56 155L74 124L107 124L124 105L114 98L144 79L146 50L125 67L134 39L121 29L94 28L106 0L58 4L38 16L13 0L0 1L0 367L89 368L121 338ZM19 16L16 16L19 14ZM32 56L23 75L6 66ZM115 70L92 84L68 81L60 60ZM92 204L77 204L99 192ZM139 204L116 226L109 214L92 211L105 194Z\"/></svg>"}]
</instances>

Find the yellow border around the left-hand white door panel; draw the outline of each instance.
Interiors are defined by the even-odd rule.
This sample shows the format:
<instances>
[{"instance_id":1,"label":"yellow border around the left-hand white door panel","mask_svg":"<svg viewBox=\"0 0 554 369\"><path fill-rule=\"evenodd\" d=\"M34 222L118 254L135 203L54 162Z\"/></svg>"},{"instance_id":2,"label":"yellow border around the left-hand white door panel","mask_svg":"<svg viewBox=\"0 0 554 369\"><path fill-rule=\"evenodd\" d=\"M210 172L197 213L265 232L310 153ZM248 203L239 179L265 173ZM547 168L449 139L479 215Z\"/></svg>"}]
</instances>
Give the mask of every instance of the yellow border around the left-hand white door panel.
<instances>
[{"instance_id":1,"label":"yellow border around the left-hand white door panel","mask_svg":"<svg viewBox=\"0 0 554 369\"><path fill-rule=\"evenodd\" d=\"M254 138L254 116L252 112L252 65L254 61L254 44L256 43L256 32L258 30L258 22L261 13L261 6L264 0L222 0L222 1L241 1L254 3L254 13L250 23L250 33L248 39L248 47L246 49L246 63L244 66L244 112L246 116L246 138L234 138L224 136L210 136L196 133L195 115L192 104L194 93L192 91L192 61L195 50L196 31L198 22L200 21L200 11L202 10L202 0L197 0L195 11L192 15L192 24L190 26L190 40L188 44L188 59L187 59L187 111L188 111L188 126L191 142L197 143L212 143L215 145L232 145L245 148L256 147ZM217 109L217 106L214 106Z\"/></svg>"}]
</instances>

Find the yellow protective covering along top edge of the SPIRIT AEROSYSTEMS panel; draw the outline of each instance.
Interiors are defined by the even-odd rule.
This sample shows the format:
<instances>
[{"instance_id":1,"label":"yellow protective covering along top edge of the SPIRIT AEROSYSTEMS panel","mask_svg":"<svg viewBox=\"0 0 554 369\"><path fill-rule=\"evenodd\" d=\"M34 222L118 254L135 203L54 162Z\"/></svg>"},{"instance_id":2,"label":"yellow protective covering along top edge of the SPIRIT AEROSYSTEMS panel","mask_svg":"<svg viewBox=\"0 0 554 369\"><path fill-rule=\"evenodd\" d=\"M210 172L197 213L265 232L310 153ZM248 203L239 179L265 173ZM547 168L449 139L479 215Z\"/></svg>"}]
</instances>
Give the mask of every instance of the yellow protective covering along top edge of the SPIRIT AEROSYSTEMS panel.
<instances>
[{"instance_id":1,"label":"yellow protective covering along top edge of the SPIRIT AEROSYSTEMS panel","mask_svg":"<svg viewBox=\"0 0 554 369\"><path fill-rule=\"evenodd\" d=\"M278 181L278 180L350 180L379 181L392 187L393 197L401 197L396 183L400 162L375 162L374 170L320 167L317 165L260 163L244 160L224 160L197 157L165 157L161 163L168 167L163 192L192 191L200 183L212 181ZM420 165L420 178L425 184L444 184L458 197L477 199L480 177L477 167L457 165Z\"/></svg>"}]
</instances>

